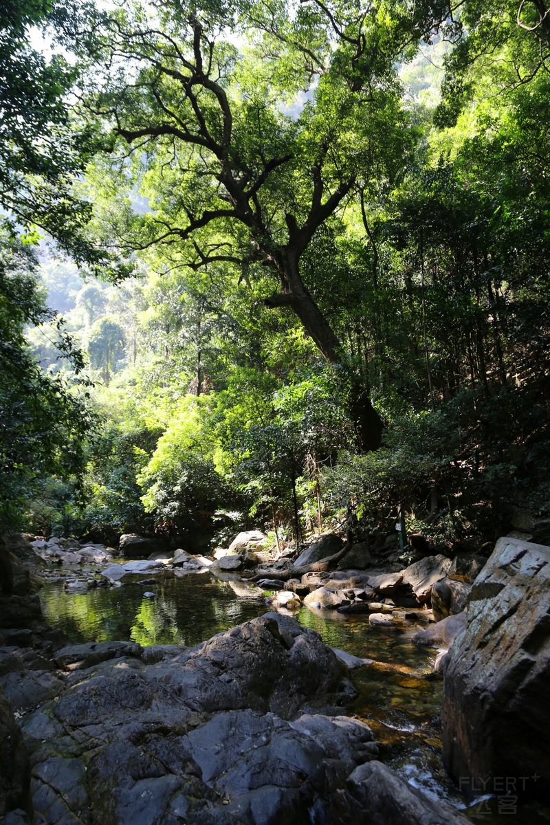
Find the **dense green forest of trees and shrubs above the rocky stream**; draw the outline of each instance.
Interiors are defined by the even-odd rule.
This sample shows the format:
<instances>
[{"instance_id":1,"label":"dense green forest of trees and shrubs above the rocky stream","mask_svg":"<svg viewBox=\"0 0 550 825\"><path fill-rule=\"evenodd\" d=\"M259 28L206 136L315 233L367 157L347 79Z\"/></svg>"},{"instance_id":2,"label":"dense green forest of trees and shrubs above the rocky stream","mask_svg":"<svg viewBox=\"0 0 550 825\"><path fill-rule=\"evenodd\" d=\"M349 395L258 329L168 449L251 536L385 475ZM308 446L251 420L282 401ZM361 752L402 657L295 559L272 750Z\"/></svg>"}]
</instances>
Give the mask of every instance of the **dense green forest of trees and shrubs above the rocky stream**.
<instances>
[{"instance_id":1,"label":"dense green forest of trees and shrubs above the rocky stream","mask_svg":"<svg viewBox=\"0 0 550 825\"><path fill-rule=\"evenodd\" d=\"M1 22L6 524L279 542L402 510L445 546L550 516L542 0Z\"/></svg>"}]
</instances>

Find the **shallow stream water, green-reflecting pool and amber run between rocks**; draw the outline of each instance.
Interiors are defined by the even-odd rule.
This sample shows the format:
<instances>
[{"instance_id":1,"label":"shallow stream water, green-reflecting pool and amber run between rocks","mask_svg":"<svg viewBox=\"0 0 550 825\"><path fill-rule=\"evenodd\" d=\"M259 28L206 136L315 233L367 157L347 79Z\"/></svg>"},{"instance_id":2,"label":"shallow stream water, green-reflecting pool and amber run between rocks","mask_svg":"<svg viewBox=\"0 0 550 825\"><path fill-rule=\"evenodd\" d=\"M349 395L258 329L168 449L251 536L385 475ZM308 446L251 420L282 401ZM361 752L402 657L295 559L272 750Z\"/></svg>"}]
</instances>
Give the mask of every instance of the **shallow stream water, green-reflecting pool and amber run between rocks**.
<instances>
[{"instance_id":1,"label":"shallow stream water, green-reflecting pool and amber run between rocks","mask_svg":"<svg viewBox=\"0 0 550 825\"><path fill-rule=\"evenodd\" d=\"M209 573L167 572L147 582L141 577L142 583L139 578L82 595L65 592L62 581L49 582L40 593L45 617L75 643L131 639L143 646L193 646L270 610L266 594L242 581L222 582ZM373 627L366 615L306 607L293 615L330 647L372 660L351 672L358 697L348 711L373 728L382 743L380 758L433 798L463 807L441 762L442 683L432 676L435 650L411 643L419 627ZM550 822L534 810L499 815L494 800L466 813L480 825Z\"/></svg>"}]
</instances>

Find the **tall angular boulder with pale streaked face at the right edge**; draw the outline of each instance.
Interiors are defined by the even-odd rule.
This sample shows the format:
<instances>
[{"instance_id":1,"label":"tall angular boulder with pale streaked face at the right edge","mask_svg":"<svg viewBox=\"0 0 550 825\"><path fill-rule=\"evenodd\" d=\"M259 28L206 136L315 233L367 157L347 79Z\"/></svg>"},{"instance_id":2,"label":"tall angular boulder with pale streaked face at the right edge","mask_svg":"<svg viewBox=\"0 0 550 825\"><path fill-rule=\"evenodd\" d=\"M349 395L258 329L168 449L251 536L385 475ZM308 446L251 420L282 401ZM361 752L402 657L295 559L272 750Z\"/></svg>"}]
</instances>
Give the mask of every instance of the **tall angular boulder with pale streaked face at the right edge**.
<instances>
[{"instance_id":1,"label":"tall angular boulder with pale streaked face at the right edge","mask_svg":"<svg viewBox=\"0 0 550 825\"><path fill-rule=\"evenodd\" d=\"M496 792L507 777L509 789L548 798L549 681L550 548L502 538L473 582L444 677L444 763L463 790Z\"/></svg>"}]
</instances>

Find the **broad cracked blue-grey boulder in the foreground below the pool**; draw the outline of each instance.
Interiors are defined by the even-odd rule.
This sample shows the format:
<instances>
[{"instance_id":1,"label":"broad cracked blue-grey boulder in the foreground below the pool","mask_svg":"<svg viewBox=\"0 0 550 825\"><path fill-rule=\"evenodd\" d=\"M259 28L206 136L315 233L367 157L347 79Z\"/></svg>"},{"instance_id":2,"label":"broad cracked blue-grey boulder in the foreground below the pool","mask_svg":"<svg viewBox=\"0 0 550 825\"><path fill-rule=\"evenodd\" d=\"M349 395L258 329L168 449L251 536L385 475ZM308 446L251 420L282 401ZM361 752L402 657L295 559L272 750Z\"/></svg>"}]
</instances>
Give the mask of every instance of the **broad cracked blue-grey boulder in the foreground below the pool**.
<instances>
[{"instance_id":1,"label":"broad cracked blue-grey boulder in the foreground below the pool","mask_svg":"<svg viewBox=\"0 0 550 825\"><path fill-rule=\"evenodd\" d=\"M368 726L334 707L353 694L347 667L287 616L148 649L59 651L65 686L22 722L43 825L76 811L113 825L325 822L332 794L377 754Z\"/></svg>"}]
</instances>

